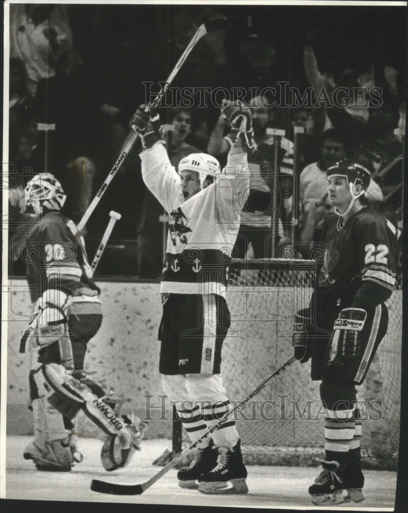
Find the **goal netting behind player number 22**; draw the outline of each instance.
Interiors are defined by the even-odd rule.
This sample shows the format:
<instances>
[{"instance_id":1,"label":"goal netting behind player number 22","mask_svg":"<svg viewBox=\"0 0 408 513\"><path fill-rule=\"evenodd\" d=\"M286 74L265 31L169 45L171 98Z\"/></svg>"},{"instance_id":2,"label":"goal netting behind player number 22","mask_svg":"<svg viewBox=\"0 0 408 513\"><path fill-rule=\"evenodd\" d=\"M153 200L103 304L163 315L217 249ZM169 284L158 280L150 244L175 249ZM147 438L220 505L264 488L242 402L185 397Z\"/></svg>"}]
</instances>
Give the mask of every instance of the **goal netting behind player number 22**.
<instances>
[{"instance_id":1,"label":"goal netting behind player number 22","mask_svg":"<svg viewBox=\"0 0 408 513\"><path fill-rule=\"evenodd\" d=\"M252 267L230 269L232 324L222 349L222 376L232 401L246 398L291 357L293 315L308 306L315 279L307 262L293 268ZM357 396L366 419L362 453L365 466L373 468L394 468L398 453L402 274L387 307L387 334ZM319 382L310 379L310 363L295 362L236 412L246 461L311 464L323 453L323 419Z\"/></svg>"}]
</instances>

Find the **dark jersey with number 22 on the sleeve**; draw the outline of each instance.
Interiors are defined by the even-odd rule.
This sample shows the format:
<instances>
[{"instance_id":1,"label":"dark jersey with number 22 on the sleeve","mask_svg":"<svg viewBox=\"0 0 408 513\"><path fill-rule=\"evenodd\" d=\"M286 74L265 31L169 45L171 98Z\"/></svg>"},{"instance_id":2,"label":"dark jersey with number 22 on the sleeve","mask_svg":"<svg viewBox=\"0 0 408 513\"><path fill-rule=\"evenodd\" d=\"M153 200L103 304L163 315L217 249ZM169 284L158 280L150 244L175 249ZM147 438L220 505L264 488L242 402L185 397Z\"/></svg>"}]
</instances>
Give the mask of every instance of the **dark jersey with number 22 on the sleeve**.
<instances>
[{"instance_id":1,"label":"dark jersey with number 22 on the sleeve","mask_svg":"<svg viewBox=\"0 0 408 513\"><path fill-rule=\"evenodd\" d=\"M397 229L371 207L344 226L331 214L323 224L327 245L318 266L318 310L354 307L370 311L390 298L395 286Z\"/></svg>"}]
</instances>

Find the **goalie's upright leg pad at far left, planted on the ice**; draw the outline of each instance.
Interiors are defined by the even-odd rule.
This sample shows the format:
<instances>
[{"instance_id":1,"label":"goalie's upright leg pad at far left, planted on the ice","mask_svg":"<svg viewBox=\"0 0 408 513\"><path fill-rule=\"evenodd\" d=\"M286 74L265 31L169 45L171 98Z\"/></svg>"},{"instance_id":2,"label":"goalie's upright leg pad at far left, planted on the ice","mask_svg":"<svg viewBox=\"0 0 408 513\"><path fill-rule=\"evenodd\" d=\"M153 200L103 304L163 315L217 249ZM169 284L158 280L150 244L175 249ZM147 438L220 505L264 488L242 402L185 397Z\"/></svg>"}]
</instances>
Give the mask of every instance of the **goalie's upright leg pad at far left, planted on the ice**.
<instances>
[{"instance_id":1,"label":"goalie's upright leg pad at far left, planted on the ice","mask_svg":"<svg viewBox=\"0 0 408 513\"><path fill-rule=\"evenodd\" d=\"M32 401L34 441L24 451L26 460L33 460L38 470L67 472L74 461L71 430L65 426L63 416L52 408L45 398Z\"/></svg>"}]
</instances>

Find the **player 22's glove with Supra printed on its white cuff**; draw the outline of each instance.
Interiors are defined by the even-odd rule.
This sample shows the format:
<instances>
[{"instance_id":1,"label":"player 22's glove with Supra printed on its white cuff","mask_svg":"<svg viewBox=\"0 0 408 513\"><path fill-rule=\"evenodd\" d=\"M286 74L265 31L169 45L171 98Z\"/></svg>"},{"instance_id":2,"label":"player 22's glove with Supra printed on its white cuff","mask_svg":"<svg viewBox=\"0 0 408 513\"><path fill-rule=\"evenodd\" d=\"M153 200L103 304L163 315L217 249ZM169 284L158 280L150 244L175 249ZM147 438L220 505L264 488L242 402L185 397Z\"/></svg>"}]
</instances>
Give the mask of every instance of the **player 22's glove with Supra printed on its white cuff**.
<instances>
[{"instance_id":1,"label":"player 22's glove with Supra printed on its white cuff","mask_svg":"<svg viewBox=\"0 0 408 513\"><path fill-rule=\"evenodd\" d=\"M367 312L362 308L343 308L334 321L330 341L329 365L341 367L360 353L361 330Z\"/></svg>"}]
</instances>

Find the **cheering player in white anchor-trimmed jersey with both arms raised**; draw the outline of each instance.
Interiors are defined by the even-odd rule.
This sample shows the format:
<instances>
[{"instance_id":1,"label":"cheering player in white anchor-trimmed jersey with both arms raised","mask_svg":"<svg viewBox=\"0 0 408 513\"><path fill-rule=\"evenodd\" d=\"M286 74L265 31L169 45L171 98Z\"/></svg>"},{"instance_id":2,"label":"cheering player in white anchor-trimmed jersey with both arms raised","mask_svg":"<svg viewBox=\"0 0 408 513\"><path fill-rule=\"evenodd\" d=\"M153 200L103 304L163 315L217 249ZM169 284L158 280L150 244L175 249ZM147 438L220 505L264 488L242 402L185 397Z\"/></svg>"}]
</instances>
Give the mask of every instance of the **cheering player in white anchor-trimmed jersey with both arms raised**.
<instances>
[{"instance_id":1,"label":"cheering player in white anchor-trimmed jersey with both arms raised","mask_svg":"<svg viewBox=\"0 0 408 513\"><path fill-rule=\"evenodd\" d=\"M159 371L192 442L230 410L220 376L221 346L230 327L224 298L228 263L249 193L247 148L251 114L241 102L226 102L233 146L223 172L213 156L193 153L178 173L160 144L159 116L140 106L130 126L140 132L142 176L170 213L161 294L163 312ZM214 183L202 185L208 175ZM179 485L205 494L248 492L235 420L231 418L198 446L190 467L178 472Z\"/></svg>"}]
</instances>

